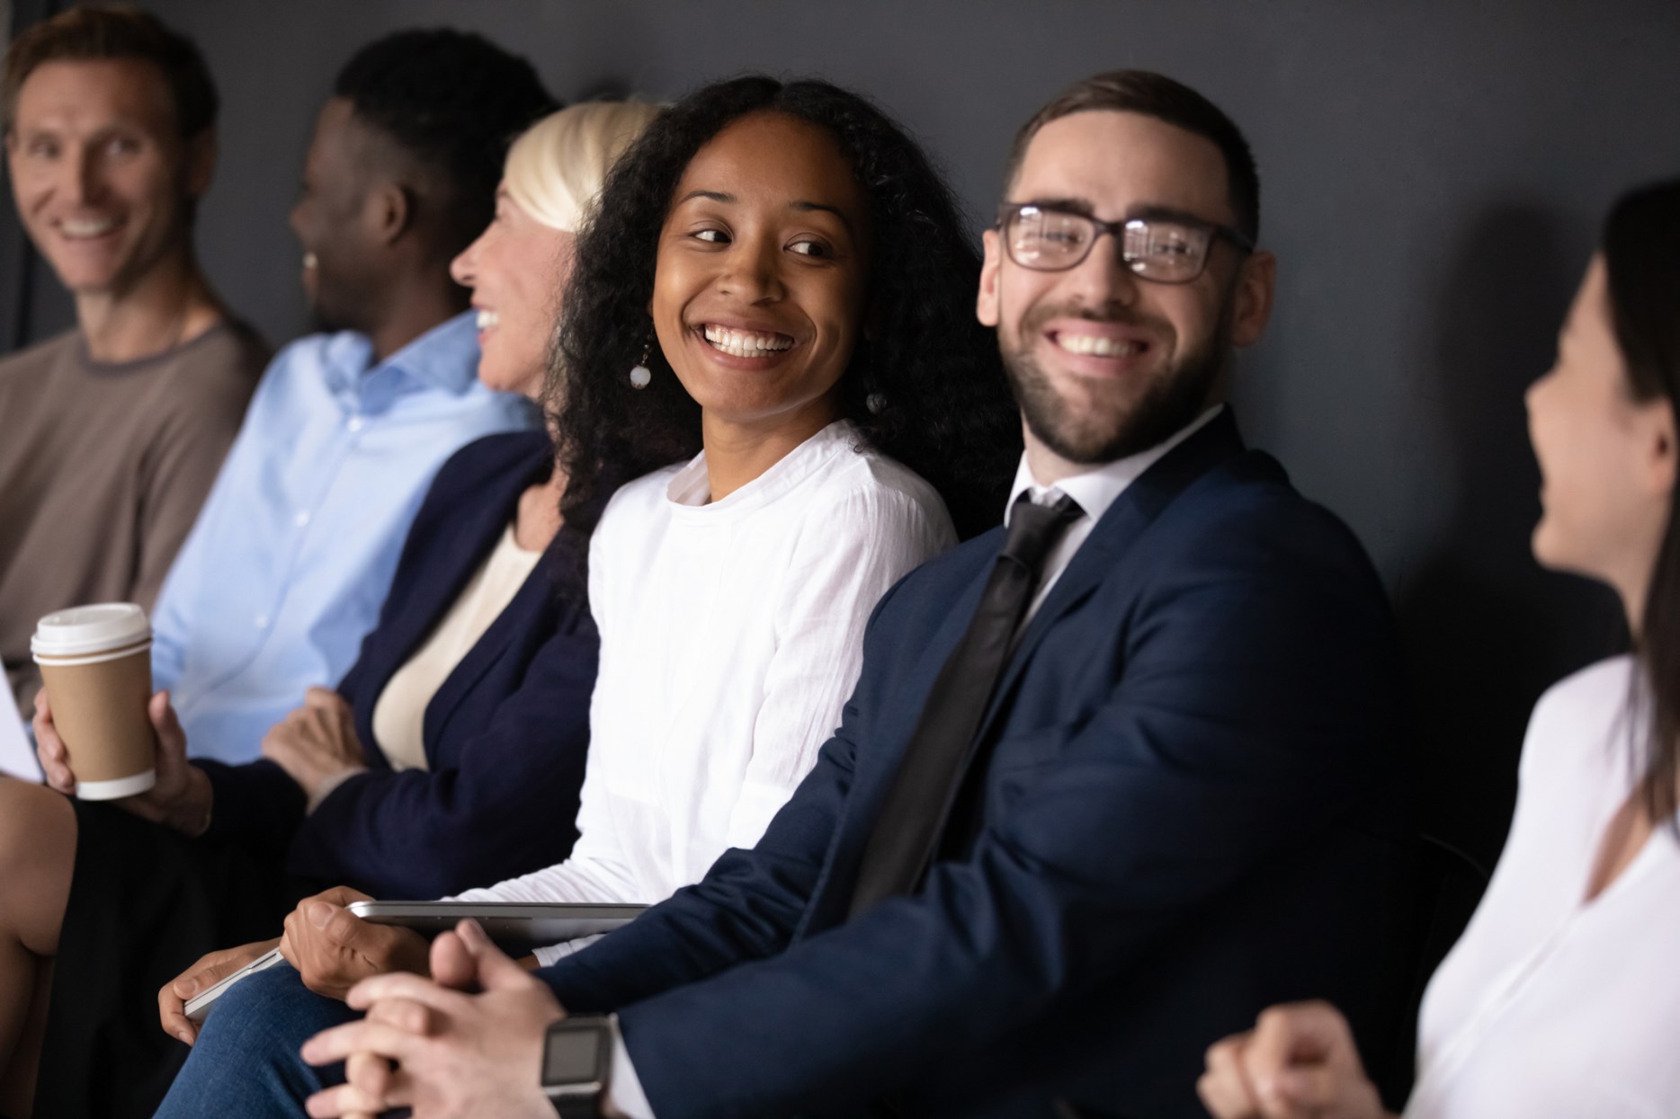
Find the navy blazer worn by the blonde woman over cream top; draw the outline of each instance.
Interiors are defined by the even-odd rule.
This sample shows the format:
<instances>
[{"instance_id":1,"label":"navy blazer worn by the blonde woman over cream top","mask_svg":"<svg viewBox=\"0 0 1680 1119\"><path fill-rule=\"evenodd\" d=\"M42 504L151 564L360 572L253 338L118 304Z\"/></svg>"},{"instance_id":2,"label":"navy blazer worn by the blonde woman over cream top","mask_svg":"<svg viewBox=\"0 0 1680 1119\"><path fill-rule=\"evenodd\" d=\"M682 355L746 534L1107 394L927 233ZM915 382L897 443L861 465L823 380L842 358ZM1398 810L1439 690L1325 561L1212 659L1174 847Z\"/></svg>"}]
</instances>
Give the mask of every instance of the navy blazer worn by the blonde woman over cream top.
<instances>
[{"instance_id":1,"label":"navy blazer worn by the blonde woman over cream top","mask_svg":"<svg viewBox=\"0 0 1680 1119\"><path fill-rule=\"evenodd\" d=\"M541 432L489 435L444 464L380 622L338 687L356 712L368 771L306 817L302 790L272 761L197 759L215 790L210 835L284 857L306 882L381 897L442 897L564 860L578 837L598 645L581 580L566 591L558 576L575 563L564 536L427 704L428 768L393 771L373 734L380 692L496 548L519 494L551 465Z\"/></svg>"}]
</instances>

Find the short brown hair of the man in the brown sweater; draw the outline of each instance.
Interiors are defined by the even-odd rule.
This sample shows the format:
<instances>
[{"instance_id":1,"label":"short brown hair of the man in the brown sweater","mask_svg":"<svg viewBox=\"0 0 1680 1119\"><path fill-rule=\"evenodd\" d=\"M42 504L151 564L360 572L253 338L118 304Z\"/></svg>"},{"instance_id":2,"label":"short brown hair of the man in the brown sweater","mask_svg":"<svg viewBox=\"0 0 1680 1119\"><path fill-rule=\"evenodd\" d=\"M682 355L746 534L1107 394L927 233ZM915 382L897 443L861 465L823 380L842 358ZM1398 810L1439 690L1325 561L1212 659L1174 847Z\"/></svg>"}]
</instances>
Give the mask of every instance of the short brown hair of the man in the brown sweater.
<instances>
[{"instance_id":1,"label":"short brown hair of the man in the brown sweater","mask_svg":"<svg viewBox=\"0 0 1680 1119\"><path fill-rule=\"evenodd\" d=\"M170 30L163 20L119 3L79 5L35 24L12 40L0 79L0 123L10 133L17 121L17 94L44 62L99 59L141 59L163 74L175 106L175 129L192 139L215 124L218 99L210 69L192 39Z\"/></svg>"}]
</instances>

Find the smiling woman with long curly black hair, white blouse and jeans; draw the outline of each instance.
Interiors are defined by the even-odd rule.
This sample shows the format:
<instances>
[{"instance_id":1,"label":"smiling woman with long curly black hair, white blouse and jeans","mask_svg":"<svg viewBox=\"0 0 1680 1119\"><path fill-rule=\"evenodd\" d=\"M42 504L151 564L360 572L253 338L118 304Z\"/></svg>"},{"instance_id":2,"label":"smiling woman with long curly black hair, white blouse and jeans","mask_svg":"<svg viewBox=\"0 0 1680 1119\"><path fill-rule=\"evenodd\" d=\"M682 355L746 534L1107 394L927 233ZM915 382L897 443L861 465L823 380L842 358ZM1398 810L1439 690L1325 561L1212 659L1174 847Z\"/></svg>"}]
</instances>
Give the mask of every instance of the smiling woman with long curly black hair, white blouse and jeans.
<instances>
[{"instance_id":1,"label":"smiling woman with long curly black hair, white blouse and jeans","mask_svg":"<svg viewBox=\"0 0 1680 1119\"><path fill-rule=\"evenodd\" d=\"M979 528L1020 457L951 193L862 97L707 86L598 207L548 383L601 638L580 838L467 901L657 902L754 845L840 721L877 598L954 541L941 496ZM591 516L598 475L635 481ZM417 956L370 939L304 981L343 995ZM324 1084L297 1045L351 1011L282 969L223 1003L161 1114L297 1114Z\"/></svg>"}]
</instances>

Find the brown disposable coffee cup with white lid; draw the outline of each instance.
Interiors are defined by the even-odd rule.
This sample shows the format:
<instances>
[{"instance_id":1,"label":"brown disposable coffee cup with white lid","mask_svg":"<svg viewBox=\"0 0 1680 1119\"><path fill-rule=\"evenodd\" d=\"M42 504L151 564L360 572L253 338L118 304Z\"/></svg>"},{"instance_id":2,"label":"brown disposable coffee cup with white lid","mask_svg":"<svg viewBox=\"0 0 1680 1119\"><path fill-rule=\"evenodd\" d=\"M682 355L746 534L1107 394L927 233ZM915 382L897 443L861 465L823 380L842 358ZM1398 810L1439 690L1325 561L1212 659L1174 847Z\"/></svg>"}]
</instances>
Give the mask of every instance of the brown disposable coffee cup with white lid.
<instances>
[{"instance_id":1,"label":"brown disposable coffee cup with white lid","mask_svg":"<svg viewBox=\"0 0 1680 1119\"><path fill-rule=\"evenodd\" d=\"M128 602L59 610L35 625L29 650L71 754L76 795L116 800L156 785L146 612Z\"/></svg>"}]
</instances>

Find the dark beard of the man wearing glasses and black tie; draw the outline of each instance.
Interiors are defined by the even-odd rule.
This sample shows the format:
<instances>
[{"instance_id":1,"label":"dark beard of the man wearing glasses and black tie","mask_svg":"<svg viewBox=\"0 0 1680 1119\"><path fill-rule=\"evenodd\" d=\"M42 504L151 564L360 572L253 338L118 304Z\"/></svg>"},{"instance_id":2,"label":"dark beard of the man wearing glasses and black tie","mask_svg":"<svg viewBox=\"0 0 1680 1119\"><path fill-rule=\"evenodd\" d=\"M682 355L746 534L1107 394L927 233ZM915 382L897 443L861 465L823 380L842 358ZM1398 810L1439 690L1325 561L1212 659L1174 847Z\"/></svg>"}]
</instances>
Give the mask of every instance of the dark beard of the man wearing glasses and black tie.
<instances>
[{"instance_id":1,"label":"dark beard of the man wearing glasses and black tie","mask_svg":"<svg viewBox=\"0 0 1680 1119\"><path fill-rule=\"evenodd\" d=\"M1030 336L1030 334L1026 334ZM1186 351L1156 376L1147 391L1121 415L1079 413L1062 400L1038 368L1028 346L1003 349L1003 368L1021 407L1026 428L1068 462L1100 465L1149 450L1201 415L1225 373L1230 355L1230 302L1206 344ZM1001 339L1000 339L1001 343Z\"/></svg>"}]
</instances>

